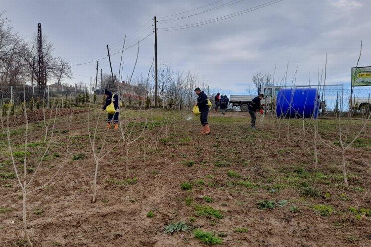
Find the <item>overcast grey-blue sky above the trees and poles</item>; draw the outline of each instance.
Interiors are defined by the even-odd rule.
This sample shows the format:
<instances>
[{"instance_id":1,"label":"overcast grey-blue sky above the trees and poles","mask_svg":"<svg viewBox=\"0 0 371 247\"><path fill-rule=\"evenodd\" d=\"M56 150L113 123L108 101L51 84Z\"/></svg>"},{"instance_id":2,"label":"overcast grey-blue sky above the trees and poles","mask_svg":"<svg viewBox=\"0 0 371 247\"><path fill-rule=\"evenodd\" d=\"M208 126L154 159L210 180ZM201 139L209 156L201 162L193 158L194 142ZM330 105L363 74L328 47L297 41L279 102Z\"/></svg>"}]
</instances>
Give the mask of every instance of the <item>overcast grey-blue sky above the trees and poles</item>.
<instances>
[{"instance_id":1,"label":"overcast grey-blue sky above the trees and poles","mask_svg":"<svg viewBox=\"0 0 371 247\"><path fill-rule=\"evenodd\" d=\"M157 16L159 61L174 71L189 70L211 87L227 92L246 92L253 73L273 73L276 63L276 82L284 76L288 62L290 80L298 65L296 84L308 84L309 73L311 83L317 83L318 67L325 66L325 53L327 82L349 86L361 40L359 66L371 66L371 0L283 0L207 25L160 32L162 28L214 19L269 0L216 1L0 0L0 10L6 10L4 15L14 31L25 39L35 35L41 22L43 34L54 43L54 54L71 64L104 57L106 44L112 53L119 51L125 33L129 36L127 44L134 44L152 32L152 18ZM216 8L229 2L234 4ZM209 3L213 4L174 15ZM216 9L193 15L213 7ZM174 16L164 17L169 15ZM188 15L193 16L174 20ZM172 22L165 23L168 19ZM140 42L136 72L147 73L153 44L154 35ZM131 73L136 52L135 46L124 52L124 74ZM114 73L119 62L120 54L114 55ZM90 83L90 76L95 77L95 63L73 66L74 79L67 82ZM100 60L99 65L109 72L108 59Z\"/></svg>"}]
</instances>

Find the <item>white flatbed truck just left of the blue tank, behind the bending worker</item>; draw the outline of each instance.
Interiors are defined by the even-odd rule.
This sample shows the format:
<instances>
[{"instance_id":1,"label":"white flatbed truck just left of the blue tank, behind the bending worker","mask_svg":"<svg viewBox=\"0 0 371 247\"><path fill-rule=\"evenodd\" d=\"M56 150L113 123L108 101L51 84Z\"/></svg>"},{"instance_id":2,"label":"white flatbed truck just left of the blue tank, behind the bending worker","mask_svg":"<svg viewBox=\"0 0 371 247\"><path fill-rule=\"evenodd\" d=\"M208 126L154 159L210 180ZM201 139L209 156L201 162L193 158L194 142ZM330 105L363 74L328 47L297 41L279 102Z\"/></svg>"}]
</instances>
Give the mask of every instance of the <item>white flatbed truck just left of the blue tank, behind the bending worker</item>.
<instances>
[{"instance_id":1,"label":"white flatbed truck just left of the blue tank, behind the bending worker","mask_svg":"<svg viewBox=\"0 0 371 247\"><path fill-rule=\"evenodd\" d=\"M261 105L264 107L267 104L267 109L270 109L272 102L276 101L276 96L281 87L278 86L264 86L262 87L262 93L264 94L264 99L261 101ZM274 92L274 93L273 93ZM232 106L239 107L241 112L247 112L249 104L253 98L258 95L237 95L232 94L230 97L230 104Z\"/></svg>"}]
</instances>

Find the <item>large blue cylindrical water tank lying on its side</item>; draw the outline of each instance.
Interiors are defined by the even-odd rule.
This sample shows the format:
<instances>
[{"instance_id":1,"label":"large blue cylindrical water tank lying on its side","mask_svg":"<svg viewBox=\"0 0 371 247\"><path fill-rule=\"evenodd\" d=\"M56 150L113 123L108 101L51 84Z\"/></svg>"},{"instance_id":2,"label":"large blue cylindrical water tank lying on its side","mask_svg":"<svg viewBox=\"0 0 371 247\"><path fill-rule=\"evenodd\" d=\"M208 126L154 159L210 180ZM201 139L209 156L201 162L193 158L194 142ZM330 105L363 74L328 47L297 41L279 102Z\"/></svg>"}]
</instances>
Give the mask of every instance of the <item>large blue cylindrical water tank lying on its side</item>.
<instances>
[{"instance_id":1,"label":"large blue cylindrical water tank lying on its side","mask_svg":"<svg viewBox=\"0 0 371 247\"><path fill-rule=\"evenodd\" d=\"M278 118L315 118L320 109L317 88L279 89L277 94Z\"/></svg>"}]
</instances>

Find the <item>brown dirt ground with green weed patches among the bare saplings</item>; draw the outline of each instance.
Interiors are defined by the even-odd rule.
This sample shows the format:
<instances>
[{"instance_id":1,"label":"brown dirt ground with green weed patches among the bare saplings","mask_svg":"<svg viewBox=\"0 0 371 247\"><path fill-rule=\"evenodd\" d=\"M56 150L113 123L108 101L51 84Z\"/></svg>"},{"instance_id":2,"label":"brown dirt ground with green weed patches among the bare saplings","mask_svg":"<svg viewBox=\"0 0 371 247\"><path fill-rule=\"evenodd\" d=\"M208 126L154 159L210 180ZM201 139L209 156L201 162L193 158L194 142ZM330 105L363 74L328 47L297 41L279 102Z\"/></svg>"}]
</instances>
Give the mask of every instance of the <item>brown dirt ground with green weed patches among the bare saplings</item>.
<instances>
[{"instance_id":1,"label":"brown dirt ground with green weed patches among the bare saplings","mask_svg":"<svg viewBox=\"0 0 371 247\"><path fill-rule=\"evenodd\" d=\"M128 161L122 141L101 160L95 204L91 203L95 162L87 112L74 114L70 138L67 118L58 117L30 189L48 181L62 164L68 143L70 149L60 173L28 196L28 231L34 246L205 246L193 229L219 236L220 246L371 246L371 167L363 161L371 164L370 124L346 153L347 190L340 154L318 140L315 168L312 135L303 137L300 121L273 125L273 120L265 119L262 125L259 116L254 131L246 113L213 112L212 134L204 136L198 134L197 118L188 122L177 118L175 128L169 125L161 130L163 114L158 113L153 122L157 124L129 146ZM98 124L96 147L104 139L105 117ZM319 132L336 148L333 123L321 120ZM350 125L352 136L362 121ZM15 126L11 144L22 151L24 125ZM89 127L93 131L93 121ZM30 124L28 142L33 145L27 167L34 169L40 162L45 150L43 131L42 123ZM140 131L138 125L133 127L131 138ZM160 132L158 149L148 131ZM102 153L120 137L119 131L110 129ZM22 192L11 174L4 135L0 150L0 245L26 246ZM23 176L23 157L15 161ZM33 169L27 172L28 179ZM185 182L190 189L181 188ZM264 200L274 208L262 209ZM219 210L221 216L202 215L197 212L200 206ZM179 221L191 229L164 233L165 226Z\"/></svg>"}]
</instances>

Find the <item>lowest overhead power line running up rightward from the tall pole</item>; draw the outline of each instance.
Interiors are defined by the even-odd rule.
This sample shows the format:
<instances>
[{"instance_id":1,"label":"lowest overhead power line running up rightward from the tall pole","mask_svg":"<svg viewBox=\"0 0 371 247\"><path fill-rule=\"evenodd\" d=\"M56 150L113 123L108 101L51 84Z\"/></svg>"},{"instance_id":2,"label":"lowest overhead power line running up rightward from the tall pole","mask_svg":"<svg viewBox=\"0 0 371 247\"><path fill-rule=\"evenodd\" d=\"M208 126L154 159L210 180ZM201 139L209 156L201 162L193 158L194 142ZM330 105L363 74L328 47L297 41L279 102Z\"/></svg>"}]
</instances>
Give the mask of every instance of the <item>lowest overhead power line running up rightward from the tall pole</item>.
<instances>
[{"instance_id":1,"label":"lowest overhead power line running up rightward from the tall pole","mask_svg":"<svg viewBox=\"0 0 371 247\"><path fill-rule=\"evenodd\" d=\"M202 21L202 22L196 22L196 23L192 23L192 24L175 26L175 27L159 28L158 31L159 32L160 31L162 31L162 32L164 32L164 31L174 31L174 30L180 30L180 29L186 29L186 28L192 28L192 27L202 26L202 25L213 23L213 22L217 22L217 21L229 19L229 18L232 18L234 16L245 14L245 13L248 13L248 12L251 12L251 11L254 11L254 10L257 10L257 9L260 9L260 8L264 8L264 7L267 7L269 5L273 5L275 3L278 3L280 1L283 1L283 0L272 0L272 1L268 1L268 2L265 2L263 4L260 4L260 5L256 5L254 7L251 7L251 8L247 8L247 9L244 9L244 10L241 10L241 11L238 11L238 12L234 12L232 14L228 14L228 15L225 15L225 16L217 17L217 18L206 20L206 21Z\"/></svg>"}]
</instances>

